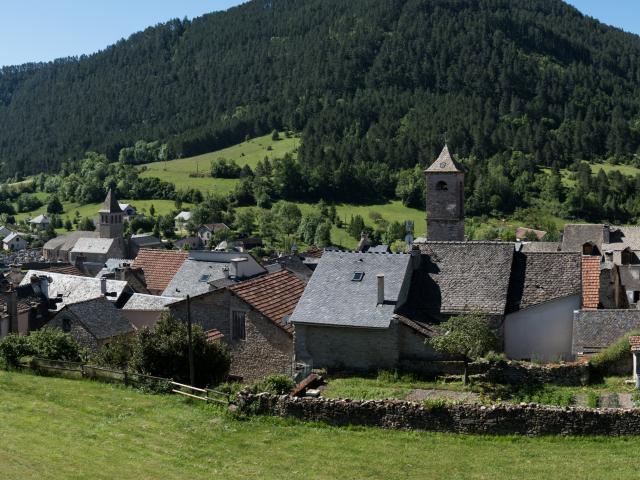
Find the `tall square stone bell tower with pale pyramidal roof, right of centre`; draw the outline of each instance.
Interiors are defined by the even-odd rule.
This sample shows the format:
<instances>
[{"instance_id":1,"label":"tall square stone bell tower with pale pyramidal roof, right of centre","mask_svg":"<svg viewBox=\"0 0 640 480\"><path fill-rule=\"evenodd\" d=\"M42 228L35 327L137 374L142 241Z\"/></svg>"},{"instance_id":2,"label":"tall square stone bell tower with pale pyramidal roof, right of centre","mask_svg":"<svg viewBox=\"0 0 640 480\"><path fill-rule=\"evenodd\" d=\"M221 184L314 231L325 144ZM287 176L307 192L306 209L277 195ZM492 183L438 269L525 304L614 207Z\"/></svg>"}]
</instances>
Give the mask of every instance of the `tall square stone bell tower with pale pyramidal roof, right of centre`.
<instances>
[{"instance_id":1,"label":"tall square stone bell tower with pale pyramidal roof, right of centre","mask_svg":"<svg viewBox=\"0 0 640 480\"><path fill-rule=\"evenodd\" d=\"M446 145L425 175L427 240L464 241L464 172Z\"/></svg>"}]
</instances>

